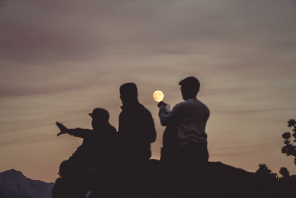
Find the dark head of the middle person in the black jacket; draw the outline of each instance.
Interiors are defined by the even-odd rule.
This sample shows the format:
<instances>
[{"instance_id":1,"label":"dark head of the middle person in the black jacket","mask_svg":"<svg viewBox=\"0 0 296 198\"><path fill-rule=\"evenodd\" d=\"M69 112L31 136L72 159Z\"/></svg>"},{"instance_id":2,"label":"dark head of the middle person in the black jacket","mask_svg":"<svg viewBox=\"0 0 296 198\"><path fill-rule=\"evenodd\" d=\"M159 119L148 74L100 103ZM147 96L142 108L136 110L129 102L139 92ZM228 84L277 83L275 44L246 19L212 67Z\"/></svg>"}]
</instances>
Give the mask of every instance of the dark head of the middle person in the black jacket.
<instances>
[{"instance_id":1,"label":"dark head of the middle person in the black jacket","mask_svg":"<svg viewBox=\"0 0 296 198\"><path fill-rule=\"evenodd\" d=\"M123 105L138 102L138 90L134 83L125 83L121 85L119 91Z\"/></svg>"}]
</instances>

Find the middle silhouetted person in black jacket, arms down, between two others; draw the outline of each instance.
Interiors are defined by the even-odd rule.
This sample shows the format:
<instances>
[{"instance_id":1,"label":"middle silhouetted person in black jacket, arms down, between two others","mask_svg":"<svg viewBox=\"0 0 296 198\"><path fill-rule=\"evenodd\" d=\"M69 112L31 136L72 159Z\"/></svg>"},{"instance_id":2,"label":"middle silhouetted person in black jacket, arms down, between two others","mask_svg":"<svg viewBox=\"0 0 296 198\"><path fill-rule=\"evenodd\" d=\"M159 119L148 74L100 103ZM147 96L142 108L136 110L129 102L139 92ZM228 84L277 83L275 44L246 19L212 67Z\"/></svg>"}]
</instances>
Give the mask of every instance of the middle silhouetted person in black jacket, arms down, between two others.
<instances>
[{"instance_id":1,"label":"middle silhouetted person in black jacket, arms down, between two others","mask_svg":"<svg viewBox=\"0 0 296 198\"><path fill-rule=\"evenodd\" d=\"M129 162L149 160L150 144L156 139L151 113L138 102L138 91L134 83L120 86L123 106L119 115L118 136L123 158Z\"/></svg>"}]
</instances>

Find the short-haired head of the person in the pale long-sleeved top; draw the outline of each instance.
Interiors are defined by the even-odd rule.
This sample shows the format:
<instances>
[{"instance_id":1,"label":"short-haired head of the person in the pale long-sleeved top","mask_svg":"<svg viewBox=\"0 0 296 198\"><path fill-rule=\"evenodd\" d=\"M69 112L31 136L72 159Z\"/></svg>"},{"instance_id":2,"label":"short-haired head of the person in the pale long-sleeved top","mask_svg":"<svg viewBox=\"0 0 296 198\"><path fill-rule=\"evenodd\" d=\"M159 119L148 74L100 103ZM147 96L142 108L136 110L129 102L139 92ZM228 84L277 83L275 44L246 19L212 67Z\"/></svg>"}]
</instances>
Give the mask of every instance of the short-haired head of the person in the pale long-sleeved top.
<instances>
[{"instance_id":1,"label":"short-haired head of the person in the pale long-sleeved top","mask_svg":"<svg viewBox=\"0 0 296 198\"><path fill-rule=\"evenodd\" d=\"M197 92L200 90L200 82L194 77L187 77L181 80L181 92L184 100L189 98L196 98Z\"/></svg>"}]
</instances>

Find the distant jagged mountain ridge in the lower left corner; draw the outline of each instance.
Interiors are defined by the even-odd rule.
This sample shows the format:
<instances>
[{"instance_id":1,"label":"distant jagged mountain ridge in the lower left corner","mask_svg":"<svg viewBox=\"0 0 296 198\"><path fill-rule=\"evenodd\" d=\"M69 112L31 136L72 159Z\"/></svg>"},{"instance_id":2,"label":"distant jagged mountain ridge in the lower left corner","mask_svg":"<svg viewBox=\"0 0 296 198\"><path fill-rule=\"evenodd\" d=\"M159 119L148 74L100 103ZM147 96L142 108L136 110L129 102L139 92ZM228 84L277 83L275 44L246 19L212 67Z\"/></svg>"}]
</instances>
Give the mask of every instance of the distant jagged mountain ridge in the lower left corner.
<instances>
[{"instance_id":1,"label":"distant jagged mountain ridge in the lower left corner","mask_svg":"<svg viewBox=\"0 0 296 198\"><path fill-rule=\"evenodd\" d=\"M54 183L32 180L10 169L0 173L1 198L51 198Z\"/></svg>"}]
</instances>

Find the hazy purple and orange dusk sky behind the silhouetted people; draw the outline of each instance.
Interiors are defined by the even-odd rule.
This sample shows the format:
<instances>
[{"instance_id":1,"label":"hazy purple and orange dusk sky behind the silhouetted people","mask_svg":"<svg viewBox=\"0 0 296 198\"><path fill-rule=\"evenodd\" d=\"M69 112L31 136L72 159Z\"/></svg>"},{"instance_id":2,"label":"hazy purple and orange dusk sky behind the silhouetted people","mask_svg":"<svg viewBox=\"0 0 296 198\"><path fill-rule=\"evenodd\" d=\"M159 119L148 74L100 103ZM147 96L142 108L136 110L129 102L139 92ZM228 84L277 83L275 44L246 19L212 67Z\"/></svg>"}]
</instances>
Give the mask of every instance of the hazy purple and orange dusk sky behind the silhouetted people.
<instances>
[{"instance_id":1,"label":"hazy purple and orange dusk sky behind the silhouetted people","mask_svg":"<svg viewBox=\"0 0 296 198\"><path fill-rule=\"evenodd\" d=\"M194 76L210 109L209 161L296 174L281 153L296 119L295 24L295 0L0 0L0 172L54 182L82 143L57 137L55 122L91 128L101 107L118 129L127 82L152 114L159 159L165 128L152 94L173 107L179 81Z\"/></svg>"}]
</instances>

